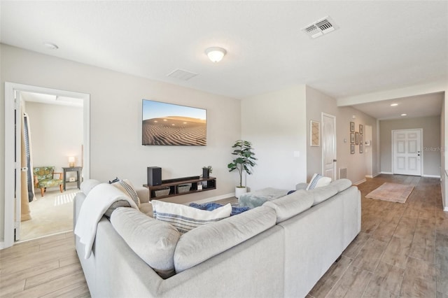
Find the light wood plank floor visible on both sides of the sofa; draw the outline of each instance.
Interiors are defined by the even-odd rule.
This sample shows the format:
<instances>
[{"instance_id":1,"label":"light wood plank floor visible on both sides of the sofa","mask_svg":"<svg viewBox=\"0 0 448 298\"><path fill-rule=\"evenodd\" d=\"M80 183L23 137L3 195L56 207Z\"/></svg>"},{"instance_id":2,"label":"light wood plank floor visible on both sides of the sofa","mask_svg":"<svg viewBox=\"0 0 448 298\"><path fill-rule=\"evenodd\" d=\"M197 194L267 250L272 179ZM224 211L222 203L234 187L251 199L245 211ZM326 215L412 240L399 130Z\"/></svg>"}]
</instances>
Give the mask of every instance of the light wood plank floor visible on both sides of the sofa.
<instances>
[{"instance_id":1,"label":"light wood plank floor visible on both sides of the sofa","mask_svg":"<svg viewBox=\"0 0 448 298\"><path fill-rule=\"evenodd\" d=\"M416 187L405 204L364 198L384 182ZM440 181L381 175L358 187L361 232L308 297L448 297L448 213ZM73 233L0 250L0 297L90 297Z\"/></svg>"}]
</instances>

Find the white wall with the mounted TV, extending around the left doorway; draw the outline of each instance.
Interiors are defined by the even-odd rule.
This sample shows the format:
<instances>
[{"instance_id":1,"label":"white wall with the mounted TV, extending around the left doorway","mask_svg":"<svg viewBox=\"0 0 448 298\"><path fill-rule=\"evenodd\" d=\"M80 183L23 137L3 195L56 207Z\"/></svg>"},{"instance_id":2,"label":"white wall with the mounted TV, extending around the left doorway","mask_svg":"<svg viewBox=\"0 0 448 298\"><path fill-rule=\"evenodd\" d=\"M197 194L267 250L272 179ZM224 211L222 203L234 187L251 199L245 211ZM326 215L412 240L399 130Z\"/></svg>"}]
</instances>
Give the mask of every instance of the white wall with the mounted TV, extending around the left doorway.
<instances>
[{"instance_id":1,"label":"white wall with the mounted TV, extending around the left doorway","mask_svg":"<svg viewBox=\"0 0 448 298\"><path fill-rule=\"evenodd\" d=\"M146 183L146 167L161 166L162 178L195 176L211 165L217 189L173 197L186 201L220 197L235 191L228 173L231 146L241 136L240 101L169 83L130 76L9 45L0 46L0 189L4 185L4 83L20 83L90 94L90 177L116 176ZM141 146L141 99L207 109L207 146ZM8 173L9 175L10 173ZM10 187L8 185L8 187ZM4 195L0 198L3 232ZM3 238L3 235L1 235Z\"/></svg>"}]
</instances>

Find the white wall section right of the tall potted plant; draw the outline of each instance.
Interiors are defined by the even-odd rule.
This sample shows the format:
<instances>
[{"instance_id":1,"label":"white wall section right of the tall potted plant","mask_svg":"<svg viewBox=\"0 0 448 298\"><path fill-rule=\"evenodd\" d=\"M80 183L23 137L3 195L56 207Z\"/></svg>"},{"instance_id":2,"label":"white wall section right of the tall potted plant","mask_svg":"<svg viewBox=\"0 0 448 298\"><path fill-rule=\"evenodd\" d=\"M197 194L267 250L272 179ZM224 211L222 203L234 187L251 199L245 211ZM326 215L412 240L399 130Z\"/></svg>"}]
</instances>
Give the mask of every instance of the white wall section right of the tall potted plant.
<instances>
[{"instance_id":1,"label":"white wall section right of the tall potted plant","mask_svg":"<svg viewBox=\"0 0 448 298\"><path fill-rule=\"evenodd\" d=\"M304 85L241 102L241 135L253 143L258 158L253 175L247 177L251 190L265 187L294 190L295 184L305 182L306 119ZM300 152L300 157L294 157L294 151Z\"/></svg>"}]
</instances>

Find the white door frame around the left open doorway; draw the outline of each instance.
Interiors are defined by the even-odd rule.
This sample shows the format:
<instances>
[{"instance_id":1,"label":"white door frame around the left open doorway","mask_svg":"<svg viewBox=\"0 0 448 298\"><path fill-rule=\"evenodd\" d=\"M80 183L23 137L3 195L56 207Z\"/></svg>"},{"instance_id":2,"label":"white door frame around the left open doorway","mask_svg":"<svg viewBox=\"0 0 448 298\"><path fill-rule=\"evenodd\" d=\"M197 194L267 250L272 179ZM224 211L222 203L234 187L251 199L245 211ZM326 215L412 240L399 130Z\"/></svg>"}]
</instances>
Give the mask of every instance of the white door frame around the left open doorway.
<instances>
[{"instance_id":1,"label":"white door frame around the left open doorway","mask_svg":"<svg viewBox=\"0 0 448 298\"><path fill-rule=\"evenodd\" d=\"M0 249L13 246L15 241L15 200L11 199L14 198L14 187L6 187L6 185L14 185L15 177L9 173L14 173L15 169L20 169L20 162L17 162L17 164L14 162L16 144L18 144L18 148L20 148L20 137L16 139L16 142L14 142L15 110L16 108L20 108L20 102L15 102L15 92L34 92L52 94L59 97L83 99L83 178L90 178L90 94L5 82L5 208L3 209L3 241L0 242ZM18 171L18 175L20 175L20 171ZM20 200L20 178L17 180L16 187L17 190L15 194L18 197L18 200Z\"/></svg>"}]
</instances>

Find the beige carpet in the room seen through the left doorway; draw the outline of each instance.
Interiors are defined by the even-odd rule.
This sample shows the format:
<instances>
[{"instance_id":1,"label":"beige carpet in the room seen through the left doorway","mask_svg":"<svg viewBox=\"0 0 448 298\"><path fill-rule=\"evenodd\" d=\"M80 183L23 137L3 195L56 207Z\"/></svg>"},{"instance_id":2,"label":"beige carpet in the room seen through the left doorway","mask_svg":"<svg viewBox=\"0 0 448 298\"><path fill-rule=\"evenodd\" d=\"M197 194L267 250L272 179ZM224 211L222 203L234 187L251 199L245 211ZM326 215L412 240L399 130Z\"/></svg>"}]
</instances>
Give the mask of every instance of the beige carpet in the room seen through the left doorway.
<instances>
[{"instance_id":1,"label":"beige carpet in the room seen through the left doorway","mask_svg":"<svg viewBox=\"0 0 448 298\"><path fill-rule=\"evenodd\" d=\"M80 190L75 188L61 193L50 189L43 197L36 192L37 200L29 203L31 220L21 222L20 241L72 230L76 192Z\"/></svg>"}]
</instances>

